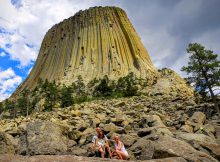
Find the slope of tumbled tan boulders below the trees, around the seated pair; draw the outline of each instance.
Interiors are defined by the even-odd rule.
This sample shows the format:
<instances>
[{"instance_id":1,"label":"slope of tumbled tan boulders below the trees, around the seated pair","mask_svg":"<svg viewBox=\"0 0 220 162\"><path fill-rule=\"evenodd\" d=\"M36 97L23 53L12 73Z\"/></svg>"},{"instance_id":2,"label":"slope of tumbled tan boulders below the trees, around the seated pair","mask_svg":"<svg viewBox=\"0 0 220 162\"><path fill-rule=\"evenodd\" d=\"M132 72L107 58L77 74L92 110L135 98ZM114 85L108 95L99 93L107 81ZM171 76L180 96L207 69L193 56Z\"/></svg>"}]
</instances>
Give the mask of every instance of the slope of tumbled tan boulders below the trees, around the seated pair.
<instances>
[{"instance_id":1,"label":"slope of tumbled tan boulders below the trees, around the seated pair","mask_svg":"<svg viewBox=\"0 0 220 162\"><path fill-rule=\"evenodd\" d=\"M220 121L215 112L201 112L212 109L212 104L196 104L194 98L156 95L98 100L34 113L27 118L3 119L0 153L94 156L89 146L95 128L100 126L110 139L115 133L121 136L130 160L172 158L171 161L215 162L220 158Z\"/></svg>"}]
</instances>

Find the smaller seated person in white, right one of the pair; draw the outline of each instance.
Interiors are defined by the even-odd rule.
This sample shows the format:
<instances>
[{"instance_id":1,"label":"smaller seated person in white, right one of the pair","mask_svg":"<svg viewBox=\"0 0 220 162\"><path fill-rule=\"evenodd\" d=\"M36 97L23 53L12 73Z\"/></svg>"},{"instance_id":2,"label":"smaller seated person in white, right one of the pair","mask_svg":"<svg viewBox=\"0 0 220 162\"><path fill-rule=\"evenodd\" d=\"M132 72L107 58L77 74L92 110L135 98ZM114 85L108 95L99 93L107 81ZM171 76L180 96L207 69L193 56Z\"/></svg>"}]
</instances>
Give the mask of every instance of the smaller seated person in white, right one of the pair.
<instances>
[{"instance_id":1,"label":"smaller seated person in white, right one of the pair","mask_svg":"<svg viewBox=\"0 0 220 162\"><path fill-rule=\"evenodd\" d=\"M116 159L126 160L128 158L128 152L126 151L124 144L120 141L118 135L114 136L114 141L115 150L113 155L115 155Z\"/></svg>"}]
</instances>

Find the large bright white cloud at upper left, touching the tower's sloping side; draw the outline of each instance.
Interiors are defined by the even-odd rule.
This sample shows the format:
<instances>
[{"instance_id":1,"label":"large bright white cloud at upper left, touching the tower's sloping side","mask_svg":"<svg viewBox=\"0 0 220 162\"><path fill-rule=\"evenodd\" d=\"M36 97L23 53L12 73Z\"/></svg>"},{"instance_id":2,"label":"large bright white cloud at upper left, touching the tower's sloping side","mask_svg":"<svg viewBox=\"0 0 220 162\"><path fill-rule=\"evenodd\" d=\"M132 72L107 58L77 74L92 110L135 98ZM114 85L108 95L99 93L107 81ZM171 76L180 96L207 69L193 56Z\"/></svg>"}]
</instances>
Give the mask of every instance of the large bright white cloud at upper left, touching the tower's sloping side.
<instances>
[{"instance_id":1,"label":"large bright white cloud at upper left, touching the tower's sloping side","mask_svg":"<svg viewBox=\"0 0 220 162\"><path fill-rule=\"evenodd\" d=\"M0 33L0 48L6 50L11 59L18 60L21 67L30 65L36 60L47 30L78 10L89 7L89 3L82 2L22 0L21 5L13 6L9 0L0 1L0 28L6 30ZM12 46L7 48L7 44Z\"/></svg>"}]
</instances>

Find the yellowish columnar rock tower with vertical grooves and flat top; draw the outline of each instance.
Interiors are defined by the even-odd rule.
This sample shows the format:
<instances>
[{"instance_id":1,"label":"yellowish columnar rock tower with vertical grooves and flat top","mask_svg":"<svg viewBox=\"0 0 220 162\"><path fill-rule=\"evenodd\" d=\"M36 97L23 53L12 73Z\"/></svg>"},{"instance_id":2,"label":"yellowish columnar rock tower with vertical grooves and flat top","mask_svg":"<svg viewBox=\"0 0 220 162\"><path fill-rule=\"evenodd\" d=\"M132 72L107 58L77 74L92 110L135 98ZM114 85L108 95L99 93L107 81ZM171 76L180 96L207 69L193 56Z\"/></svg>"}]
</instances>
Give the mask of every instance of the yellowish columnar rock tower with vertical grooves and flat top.
<instances>
[{"instance_id":1,"label":"yellowish columnar rock tower with vertical grooves and flat top","mask_svg":"<svg viewBox=\"0 0 220 162\"><path fill-rule=\"evenodd\" d=\"M39 78L68 84L134 72L148 80L157 75L149 54L118 7L93 7L54 25L45 35L36 63L17 92L33 88Z\"/></svg>"}]
</instances>

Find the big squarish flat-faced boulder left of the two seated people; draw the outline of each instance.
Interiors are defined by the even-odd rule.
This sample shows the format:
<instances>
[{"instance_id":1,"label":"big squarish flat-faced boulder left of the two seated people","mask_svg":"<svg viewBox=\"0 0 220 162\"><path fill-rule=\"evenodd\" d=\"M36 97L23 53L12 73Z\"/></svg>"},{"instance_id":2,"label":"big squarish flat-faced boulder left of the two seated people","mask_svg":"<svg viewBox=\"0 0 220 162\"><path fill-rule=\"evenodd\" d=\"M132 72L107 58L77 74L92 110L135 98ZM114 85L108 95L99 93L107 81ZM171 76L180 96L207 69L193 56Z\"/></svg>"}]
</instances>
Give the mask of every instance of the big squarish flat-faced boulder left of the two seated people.
<instances>
[{"instance_id":1,"label":"big squarish flat-faced boulder left of the two seated people","mask_svg":"<svg viewBox=\"0 0 220 162\"><path fill-rule=\"evenodd\" d=\"M26 138L30 155L59 154L67 151L67 140L62 130L50 121L29 123Z\"/></svg>"}]
</instances>

